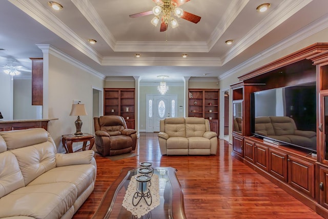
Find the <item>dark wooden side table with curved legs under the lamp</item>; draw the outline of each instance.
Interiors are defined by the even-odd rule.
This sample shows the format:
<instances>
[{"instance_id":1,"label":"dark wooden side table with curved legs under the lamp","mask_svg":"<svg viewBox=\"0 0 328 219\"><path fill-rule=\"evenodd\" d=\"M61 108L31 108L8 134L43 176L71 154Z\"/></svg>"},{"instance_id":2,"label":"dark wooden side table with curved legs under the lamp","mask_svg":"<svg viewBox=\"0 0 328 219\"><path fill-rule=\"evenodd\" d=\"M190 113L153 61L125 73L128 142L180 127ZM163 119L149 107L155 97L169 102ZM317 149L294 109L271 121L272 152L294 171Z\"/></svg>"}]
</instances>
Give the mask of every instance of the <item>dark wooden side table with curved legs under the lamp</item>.
<instances>
[{"instance_id":1,"label":"dark wooden side table with curved legs under the lamp","mask_svg":"<svg viewBox=\"0 0 328 219\"><path fill-rule=\"evenodd\" d=\"M90 142L89 150L92 149L94 145L94 135L83 133L83 135L74 135L74 134L64 134L61 135L61 142L66 150L66 153L73 153L73 143L74 142L83 142L82 150L85 151L87 147L87 142Z\"/></svg>"}]
</instances>

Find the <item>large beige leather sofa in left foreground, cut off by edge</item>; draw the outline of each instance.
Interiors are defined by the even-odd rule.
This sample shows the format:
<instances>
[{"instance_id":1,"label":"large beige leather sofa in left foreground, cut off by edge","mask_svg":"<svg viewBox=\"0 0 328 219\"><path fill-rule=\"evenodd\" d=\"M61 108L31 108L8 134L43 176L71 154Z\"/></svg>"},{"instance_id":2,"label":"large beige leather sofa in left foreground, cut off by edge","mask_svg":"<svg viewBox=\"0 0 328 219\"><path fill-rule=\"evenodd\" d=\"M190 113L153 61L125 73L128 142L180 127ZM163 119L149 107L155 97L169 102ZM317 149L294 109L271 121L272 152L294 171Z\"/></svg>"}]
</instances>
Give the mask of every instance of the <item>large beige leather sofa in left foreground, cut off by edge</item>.
<instances>
[{"instance_id":1,"label":"large beige leather sofa in left foreground, cut off by edge","mask_svg":"<svg viewBox=\"0 0 328 219\"><path fill-rule=\"evenodd\" d=\"M94 151L56 151L45 129L0 132L0 218L72 218L94 189Z\"/></svg>"}]
</instances>

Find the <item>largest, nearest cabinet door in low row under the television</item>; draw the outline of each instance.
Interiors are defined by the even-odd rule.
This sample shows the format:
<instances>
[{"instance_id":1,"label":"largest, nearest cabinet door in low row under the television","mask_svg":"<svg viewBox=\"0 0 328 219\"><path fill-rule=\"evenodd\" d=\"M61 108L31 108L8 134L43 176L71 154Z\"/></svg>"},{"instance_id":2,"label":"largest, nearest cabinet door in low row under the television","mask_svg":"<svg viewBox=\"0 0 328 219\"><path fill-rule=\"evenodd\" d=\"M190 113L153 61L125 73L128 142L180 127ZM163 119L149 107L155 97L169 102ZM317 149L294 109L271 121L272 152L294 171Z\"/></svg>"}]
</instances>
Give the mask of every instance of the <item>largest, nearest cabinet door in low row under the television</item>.
<instances>
[{"instance_id":1,"label":"largest, nearest cabinet door in low row under the television","mask_svg":"<svg viewBox=\"0 0 328 219\"><path fill-rule=\"evenodd\" d=\"M314 168L313 163L288 156L288 184L314 198Z\"/></svg>"}]
</instances>

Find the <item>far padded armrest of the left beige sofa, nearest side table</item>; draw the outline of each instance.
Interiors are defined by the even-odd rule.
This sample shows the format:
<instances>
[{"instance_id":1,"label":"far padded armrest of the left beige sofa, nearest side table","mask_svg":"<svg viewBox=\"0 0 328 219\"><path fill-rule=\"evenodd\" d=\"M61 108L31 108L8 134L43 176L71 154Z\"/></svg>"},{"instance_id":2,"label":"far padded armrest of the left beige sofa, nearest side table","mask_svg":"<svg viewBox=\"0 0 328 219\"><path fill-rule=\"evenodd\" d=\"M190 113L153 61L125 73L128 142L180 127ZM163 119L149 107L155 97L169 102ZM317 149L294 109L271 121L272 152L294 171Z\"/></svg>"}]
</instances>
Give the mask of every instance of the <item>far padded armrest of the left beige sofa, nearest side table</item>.
<instances>
[{"instance_id":1,"label":"far padded armrest of the left beige sofa, nearest side table","mask_svg":"<svg viewBox=\"0 0 328 219\"><path fill-rule=\"evenodd\" d=\"M94 156L93 150L79 151L74 153L56 153L56 167L90 164Z\"/></svg>"}]
</instances>

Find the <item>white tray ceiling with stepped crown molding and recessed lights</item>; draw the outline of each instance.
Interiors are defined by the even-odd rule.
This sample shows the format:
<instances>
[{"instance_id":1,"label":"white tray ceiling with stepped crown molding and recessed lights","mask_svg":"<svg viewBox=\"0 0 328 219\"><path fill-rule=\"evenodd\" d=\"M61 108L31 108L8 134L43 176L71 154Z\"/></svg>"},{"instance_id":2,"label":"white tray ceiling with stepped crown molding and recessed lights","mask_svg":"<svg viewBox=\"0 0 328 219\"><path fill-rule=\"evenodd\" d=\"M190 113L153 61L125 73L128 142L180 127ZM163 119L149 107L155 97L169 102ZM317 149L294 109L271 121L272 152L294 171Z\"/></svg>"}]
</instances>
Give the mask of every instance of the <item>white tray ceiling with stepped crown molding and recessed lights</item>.
<instances>
[{"instance_id":1,"label":"white tray ceiling with stepped crown molding and recessed lights","mask_svg":"<svg viewBox=\"0 0 328 219\"><path fill-rule=\"evenodd\" d=\"M180 8L201 16L200 22L177 18L177 28L159 32L150 23L153 15L129 17L152 10L152 0L57 2L63 10L44 0L1 1L0 65L14 58L14 65L31 69L29 57L43 55L37 44L50 44L104 76L140 76L145 83L160 81L158 75L168 75L168 82L220 77L328 19L327 0L271 0L264 13L256 11L267 3L259 0L191 0ZM224 43L228 39L232 45Z\"/></svg>"}]
</instances>

